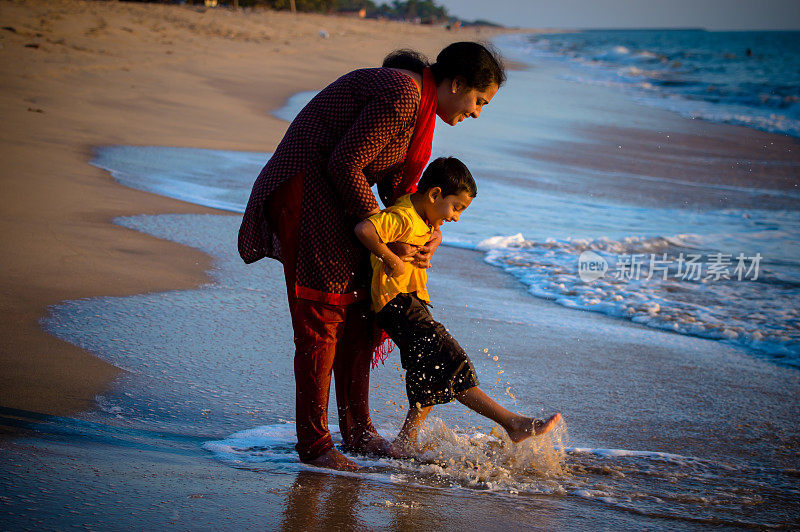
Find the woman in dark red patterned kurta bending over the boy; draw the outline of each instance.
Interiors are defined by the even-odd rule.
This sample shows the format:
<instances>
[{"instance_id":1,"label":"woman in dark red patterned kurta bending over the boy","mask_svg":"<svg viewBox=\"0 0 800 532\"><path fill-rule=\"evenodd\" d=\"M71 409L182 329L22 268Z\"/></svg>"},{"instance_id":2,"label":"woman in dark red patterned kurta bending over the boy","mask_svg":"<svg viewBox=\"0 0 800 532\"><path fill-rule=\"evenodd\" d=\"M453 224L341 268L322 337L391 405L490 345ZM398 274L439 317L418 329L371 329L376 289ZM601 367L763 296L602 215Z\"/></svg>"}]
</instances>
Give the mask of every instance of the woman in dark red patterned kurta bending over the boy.
<instances>
[{"instance_id":1,"label":"woman in dark red patterned kurta bending over the boy","mask_svg":"<svg viewBox=\"0 0 800 532\"><path fill-rule=\"evenodd\" d=\"M484 46L454 43L436 62L412 51L390 54L383 68L350 72L297 115L261 170L239 230L246 263L283 263L295 340L296 449L303 462L337 469L355 463L328 431L331 371L344 446L383 454L387 442L369 415L374 326L368 252L356 223L411 192L430 158L438 115L450 125L477 118L505 73ZM430 265L435 235L415 256Z\"/></svg>"}]
</instances>

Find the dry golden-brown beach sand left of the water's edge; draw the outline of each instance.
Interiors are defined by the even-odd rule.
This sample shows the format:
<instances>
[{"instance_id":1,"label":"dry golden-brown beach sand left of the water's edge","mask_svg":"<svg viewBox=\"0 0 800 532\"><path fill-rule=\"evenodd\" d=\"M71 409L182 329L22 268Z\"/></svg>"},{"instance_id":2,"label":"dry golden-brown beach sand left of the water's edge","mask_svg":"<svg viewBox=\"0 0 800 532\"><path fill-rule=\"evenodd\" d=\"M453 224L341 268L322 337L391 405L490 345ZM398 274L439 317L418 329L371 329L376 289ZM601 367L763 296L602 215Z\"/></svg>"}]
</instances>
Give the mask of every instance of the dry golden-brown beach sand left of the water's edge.
<instances>
[{"instance_id":1,"label":"dry golden-brown beach sand left of the water's edge","mask_svg":"<svg viewBox=\"0 0 800 532\"><path fill-rule=\"evenodd\" d=\"M45 334L48 305L195 286L209 259L117 216L211 209L116 184L95 146L270 151L268 114L390 50L493 33L282 12L117 2L0 2L3 239L0 406L87 408L113 366ZM323 37L324 31L327 37Z\"/></svg>"}]
</instances>

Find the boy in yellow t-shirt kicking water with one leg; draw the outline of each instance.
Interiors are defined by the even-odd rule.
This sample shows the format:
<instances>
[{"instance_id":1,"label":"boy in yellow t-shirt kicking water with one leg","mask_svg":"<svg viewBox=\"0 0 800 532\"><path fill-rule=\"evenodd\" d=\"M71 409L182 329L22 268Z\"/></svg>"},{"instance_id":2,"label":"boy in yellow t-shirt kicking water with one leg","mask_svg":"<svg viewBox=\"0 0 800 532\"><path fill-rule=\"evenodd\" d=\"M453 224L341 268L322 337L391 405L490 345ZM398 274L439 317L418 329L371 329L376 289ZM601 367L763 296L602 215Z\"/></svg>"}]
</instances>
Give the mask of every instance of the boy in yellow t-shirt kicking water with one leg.
<instances>
[{"instance_id":1,"label":"boy in yellow t-shirt kicking water with one leg","mask_svg":"<svg viewBox=\"0 0 800 532\"><path fill-rule=\"evenodd\" d=\"M427 273L395 255L387 242L422 246L442 222L457 222L477 194L472 175L455 157L433 161L417 191L356 226L359 240L372 252L372 305L381 327L400 348L410 405L403 428L390 446L395 457L413 455L417 432L431 407L458 399L500 424L513 442L550 431L561 419L546 421L515 414L478 388L467 354L428 310Z\"/></svg>"}]
</instances>

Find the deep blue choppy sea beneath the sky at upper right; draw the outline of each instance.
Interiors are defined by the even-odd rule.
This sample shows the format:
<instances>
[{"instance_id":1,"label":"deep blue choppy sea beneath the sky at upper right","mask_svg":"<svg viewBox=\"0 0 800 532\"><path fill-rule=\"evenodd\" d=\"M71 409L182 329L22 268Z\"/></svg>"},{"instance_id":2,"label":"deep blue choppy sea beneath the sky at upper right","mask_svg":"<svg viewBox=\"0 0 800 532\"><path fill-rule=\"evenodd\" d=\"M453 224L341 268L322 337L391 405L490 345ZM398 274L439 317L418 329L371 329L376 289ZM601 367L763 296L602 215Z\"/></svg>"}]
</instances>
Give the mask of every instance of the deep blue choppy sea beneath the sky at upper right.
<instances>
[{"instance_id":1,"label":"deep blue choppy sea beneath the sky at upper right","mask_svg":"<svg viewBox=\"0 0 800 532\"><path fill-rule=\"evenodd\" d=\"M587 30L506 41L684 116L800 136L800 32Z\"/></svg>"}]
</instances>

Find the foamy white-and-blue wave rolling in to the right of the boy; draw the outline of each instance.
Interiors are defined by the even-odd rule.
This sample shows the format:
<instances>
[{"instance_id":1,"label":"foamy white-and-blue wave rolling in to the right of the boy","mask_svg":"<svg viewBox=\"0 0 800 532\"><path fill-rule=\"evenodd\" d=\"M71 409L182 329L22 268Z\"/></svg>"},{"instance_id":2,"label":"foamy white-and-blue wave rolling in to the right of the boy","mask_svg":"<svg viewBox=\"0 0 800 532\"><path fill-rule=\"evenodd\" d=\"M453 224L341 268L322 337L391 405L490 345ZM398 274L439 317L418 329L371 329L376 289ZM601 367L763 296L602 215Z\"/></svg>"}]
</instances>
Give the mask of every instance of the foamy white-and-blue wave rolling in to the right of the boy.
<instances>
[{"instance_id":1,"label":"foamy white-and-blue wave rolling in to the right of the boy","mask_svg":"<svg viewBox=\"0 0 800 532\"><path fill-rule=\"evenodd\" d=\"M791 270L781 272L767 262L760 265L756 280L752 280L753 274L741 280L736 275L731 279L678 277L680 254L698 254L705 243L699 235L691 234L545 242L516 234L490 238L477 247L487 252L488 263L514 275L536 297L658 329L724 341L800 367L800 313L794 304L800 288ZM579 258L587 251L609 265L603 277L591 282L578 275ZM636 278L624 278L615 268L624 257L634 255L642 257L641 272ZM647 261L651 257L668 263L666 279L651 269ZM703 272L707 272L707 259L703 265ZM735 265L734 258L731 270ZM722 305L724 301L737 303Z\"/></svg>"}]
</instances>

